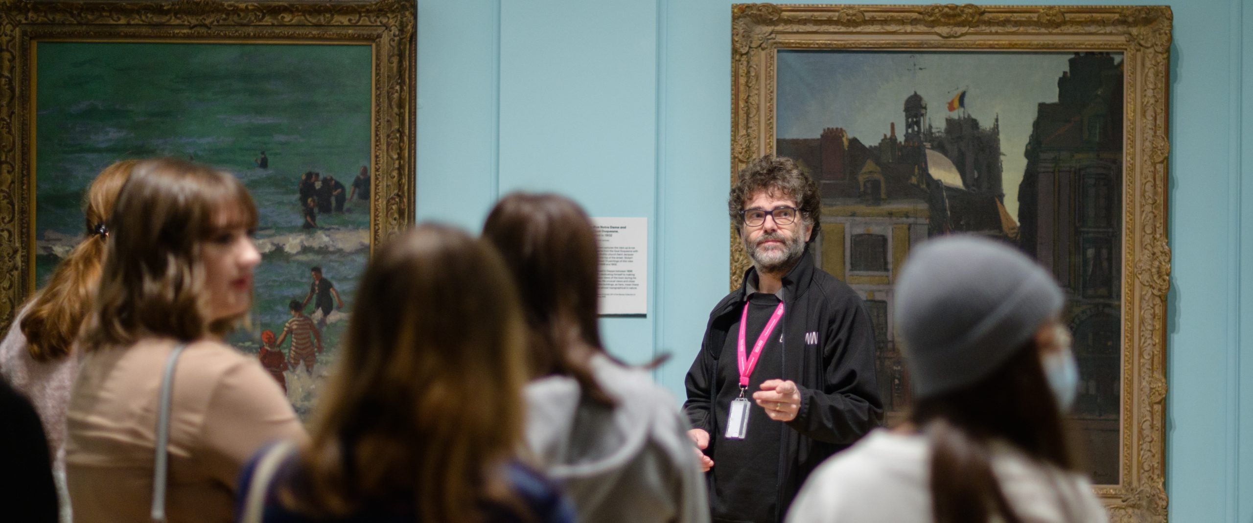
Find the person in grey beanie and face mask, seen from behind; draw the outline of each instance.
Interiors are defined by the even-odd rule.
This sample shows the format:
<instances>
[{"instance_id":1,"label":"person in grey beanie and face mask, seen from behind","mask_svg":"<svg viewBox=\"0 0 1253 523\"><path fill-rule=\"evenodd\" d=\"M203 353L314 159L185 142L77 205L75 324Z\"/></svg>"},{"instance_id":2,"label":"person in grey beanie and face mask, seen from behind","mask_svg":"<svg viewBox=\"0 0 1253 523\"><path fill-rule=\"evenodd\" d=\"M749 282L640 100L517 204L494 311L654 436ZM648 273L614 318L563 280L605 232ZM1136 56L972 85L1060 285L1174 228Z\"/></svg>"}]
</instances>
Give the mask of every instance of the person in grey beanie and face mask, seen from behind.
<instances>
[{"instance_id":1,"label":"person in grey beanie and face mask, seen from behind","mask_svg":"<svg viewBox=\"0 0 1253 523\"><path fill-rule=\"evenodd\" d=\"M922 244L896 285L908 423L823 463L788 523L1105 522L1066 440L1079 374L1063 305L1053 278L1010 245Z\"/></svg>"}]
</instances>

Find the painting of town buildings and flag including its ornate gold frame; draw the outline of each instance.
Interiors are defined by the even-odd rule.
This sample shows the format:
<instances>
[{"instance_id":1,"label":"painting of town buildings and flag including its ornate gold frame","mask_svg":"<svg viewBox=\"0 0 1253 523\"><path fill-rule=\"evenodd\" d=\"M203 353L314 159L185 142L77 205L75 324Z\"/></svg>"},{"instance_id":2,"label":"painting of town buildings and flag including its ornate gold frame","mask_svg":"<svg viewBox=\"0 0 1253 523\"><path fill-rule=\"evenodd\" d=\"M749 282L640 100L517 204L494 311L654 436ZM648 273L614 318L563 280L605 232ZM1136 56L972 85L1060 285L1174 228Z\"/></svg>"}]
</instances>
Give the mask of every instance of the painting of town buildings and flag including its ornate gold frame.
<instances>
[{"instance_id":1,"label":"painting of town buildings and flag including its ornate gold frame","mask_svg":"<svg viewBox=\"0 0 1253 523\"><path fill-rule=\"evenodd\" d=\"M1073 418L1118 522L1167 517L1170 31L1164 6L732 11L732 183L767 153L818 180L811 250L867 300L888 422L908 400L891 285L910 248L952 231L1019 244L1068 293ZM969 79L938 89L955 71ZM1006 74L1050 93L999 93ZM749 262L734 228L730 260L738 288Z\"/></svg>"}]
</instances>

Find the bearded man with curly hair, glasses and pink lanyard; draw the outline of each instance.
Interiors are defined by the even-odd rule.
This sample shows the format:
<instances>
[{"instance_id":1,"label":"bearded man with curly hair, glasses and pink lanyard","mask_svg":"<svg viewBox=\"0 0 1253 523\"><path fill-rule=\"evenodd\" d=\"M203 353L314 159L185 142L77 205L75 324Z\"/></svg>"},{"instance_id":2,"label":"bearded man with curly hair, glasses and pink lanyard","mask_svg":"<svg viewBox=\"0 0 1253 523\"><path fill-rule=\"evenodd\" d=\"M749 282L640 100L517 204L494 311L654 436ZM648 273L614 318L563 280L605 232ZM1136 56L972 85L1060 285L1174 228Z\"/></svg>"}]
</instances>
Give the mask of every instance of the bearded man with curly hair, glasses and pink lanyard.
<instances>
[{"instance_id":1,"label":"bearded man with curly hair, glasses and pink lanyard","mask_svg":"<svg viewBox=\"0 0 1253 523\"><path fill-rule=\"evenodd\" d=\"M776 523L814 467L880 424L875 330L862 298L814 267L822 200L796 161L746 166L727 205L753 267L709 314L688 434L713 522Z\"/></svg>"}]
</instances>

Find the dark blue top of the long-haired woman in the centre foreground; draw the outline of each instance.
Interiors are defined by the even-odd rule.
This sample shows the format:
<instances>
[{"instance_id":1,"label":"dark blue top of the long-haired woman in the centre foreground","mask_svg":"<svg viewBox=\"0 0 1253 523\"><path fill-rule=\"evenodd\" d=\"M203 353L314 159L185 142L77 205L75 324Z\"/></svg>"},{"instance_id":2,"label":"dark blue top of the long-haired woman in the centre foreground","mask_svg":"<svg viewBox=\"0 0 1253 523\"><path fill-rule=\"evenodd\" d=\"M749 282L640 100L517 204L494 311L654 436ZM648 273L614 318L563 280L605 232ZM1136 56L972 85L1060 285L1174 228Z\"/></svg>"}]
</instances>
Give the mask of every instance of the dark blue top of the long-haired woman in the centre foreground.
<instances>
[{"instance_id":1,"label":"dark blue top of the long-haired woman in the centre foreground","mask_svg":"<svg viewBox=\"0 0 1253 523\"><path fill-rule=\"evenodd\" d=\"M236 500L237 519L243 515L243 503L247 498L248 489L252 485L253 469L267 452L269 452L269 447L253 455L252 459L248 460L248 464L244 465L243 472L239 473L239 489L237 490L238 497ZM347 518L320 519L288 510L278 502L277 485L287 484L291 478L299 474L299 463L296 457L296 453L288 455L287 459L283 460L283 464L279 465L274 478L269 482L269 485L266 487L266 509L264 515L262 517L262 520L266 523L421 522L417 515L416 507L413 507L412 499L397 499L396 503L371 508ZM509 474L510 484L512 484L517 498L531 512L534 519L530 520L534 520L535 523L574 522L574 510L570 508L569 503L566 503L556 485L539 475L539 473L517 463L510 464L506 473ZM485 523L524 523L529 520L514 514L512 510L505 507L485 507L485 509L489 513Z\"/></svg>"}]
</instances>

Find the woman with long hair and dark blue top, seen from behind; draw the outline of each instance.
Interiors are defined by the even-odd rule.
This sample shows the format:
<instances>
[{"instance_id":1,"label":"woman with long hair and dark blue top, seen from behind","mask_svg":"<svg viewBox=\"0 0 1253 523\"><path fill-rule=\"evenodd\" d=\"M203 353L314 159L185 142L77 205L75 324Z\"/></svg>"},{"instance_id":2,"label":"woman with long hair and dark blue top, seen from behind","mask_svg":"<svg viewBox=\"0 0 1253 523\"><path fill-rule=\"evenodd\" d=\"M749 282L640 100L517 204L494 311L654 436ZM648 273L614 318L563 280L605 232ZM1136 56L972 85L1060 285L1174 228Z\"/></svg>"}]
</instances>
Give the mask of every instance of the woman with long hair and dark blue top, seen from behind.
<instances>
[{"instance_id":1,"label":"woman with long hair and dark blue top, seen from behind","mask_svg":"<svg viewBox=\"0 0 1253 523\"><path fill-rule=\"evenodd\" d=\"M249 463L241 520L569 522L514 460L524 329L491 246L421 225L375 253L356 299L312 443Z\"/></svg>"}]
</instances>

